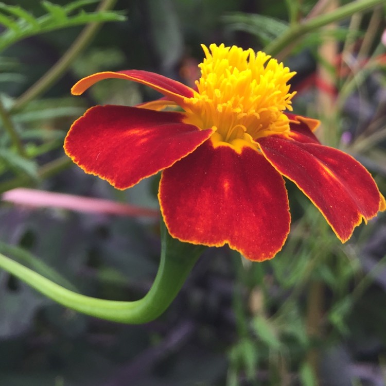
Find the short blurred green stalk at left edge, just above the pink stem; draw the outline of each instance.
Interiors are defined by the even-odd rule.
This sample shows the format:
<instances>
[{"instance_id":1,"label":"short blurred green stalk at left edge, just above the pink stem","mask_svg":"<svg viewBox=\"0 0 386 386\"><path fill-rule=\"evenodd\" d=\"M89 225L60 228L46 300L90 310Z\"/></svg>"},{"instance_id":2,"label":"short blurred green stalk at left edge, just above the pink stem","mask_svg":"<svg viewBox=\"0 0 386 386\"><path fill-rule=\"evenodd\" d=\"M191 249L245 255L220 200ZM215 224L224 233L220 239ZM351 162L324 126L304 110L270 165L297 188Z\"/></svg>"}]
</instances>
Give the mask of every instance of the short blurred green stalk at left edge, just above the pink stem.
<instances>
[{"instance_id":1,"label":"short blurred green stalk at left edge, just above the pink stem","mask_svg":"<svg viewBox=\"0 0 386 386\"><path fill-rule=\"evenodd\" d=\"M55 174L64 169L67 169L71 165L73 165L73 162L69 157L60 157L41 166L38 170L38 177L39 179L44 180L48 177L55 176ZM28 176L15 177L12 180L0 183L0 194L14 188L19 188L21 186L30 186L34 183L36 183L36 181L32 180Z\"/></svg>"}]
</instances>

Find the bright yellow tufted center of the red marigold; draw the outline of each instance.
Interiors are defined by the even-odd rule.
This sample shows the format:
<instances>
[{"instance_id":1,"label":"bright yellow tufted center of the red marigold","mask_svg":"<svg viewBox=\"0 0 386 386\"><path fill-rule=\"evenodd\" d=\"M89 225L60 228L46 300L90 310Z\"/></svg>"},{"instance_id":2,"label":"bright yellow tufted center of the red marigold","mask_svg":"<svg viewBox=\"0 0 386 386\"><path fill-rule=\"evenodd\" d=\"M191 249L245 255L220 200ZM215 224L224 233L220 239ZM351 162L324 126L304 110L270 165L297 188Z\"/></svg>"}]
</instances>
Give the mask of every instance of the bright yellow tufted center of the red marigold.
<instances>
[{"instance_id":1,"label":"bright yellow tufted center of the red marigold","mask_svg":"<svg viewBox=\"0 0 386 386\"><path fill-rule=\"evenodd\" d=\"M185 98L187 121L201 129L214 128L214 146L256 148L255 139L289 130L283 111L291 108L287 81L295 74L264 52L250 48L202 45L198 92Z\"/></svg>"}]
</instances>

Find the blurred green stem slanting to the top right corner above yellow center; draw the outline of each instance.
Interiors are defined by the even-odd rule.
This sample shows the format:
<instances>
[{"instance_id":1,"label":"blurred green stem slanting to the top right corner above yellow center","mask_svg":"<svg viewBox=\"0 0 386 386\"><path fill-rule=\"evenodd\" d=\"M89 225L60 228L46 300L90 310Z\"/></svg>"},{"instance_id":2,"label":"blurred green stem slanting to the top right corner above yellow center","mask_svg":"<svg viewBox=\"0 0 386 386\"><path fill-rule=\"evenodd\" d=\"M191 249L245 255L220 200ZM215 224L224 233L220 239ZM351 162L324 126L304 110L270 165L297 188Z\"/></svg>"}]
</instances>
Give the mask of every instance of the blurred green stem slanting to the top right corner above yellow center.
<instances>
[{"instance_id":1,"label":"blurred green stem slanting to the top right corner above yellow center","mask_svg":"<svg viewBox=\"0 0 386 386\"><path fill-rule=\"evenodd\" d=\"M280 51L285 49L288 45L293 44L304 34L323 27L327 24L346 19L356 12L363 12L380 4L384 4L384 0L358 0L356 2L343 5L342 7L336 9L334 12L316 16L312 19L293 25L289 27L285 33L271 42L265 48L265 51L272 56L277 56Z\"/></svg>"}]
</instances>

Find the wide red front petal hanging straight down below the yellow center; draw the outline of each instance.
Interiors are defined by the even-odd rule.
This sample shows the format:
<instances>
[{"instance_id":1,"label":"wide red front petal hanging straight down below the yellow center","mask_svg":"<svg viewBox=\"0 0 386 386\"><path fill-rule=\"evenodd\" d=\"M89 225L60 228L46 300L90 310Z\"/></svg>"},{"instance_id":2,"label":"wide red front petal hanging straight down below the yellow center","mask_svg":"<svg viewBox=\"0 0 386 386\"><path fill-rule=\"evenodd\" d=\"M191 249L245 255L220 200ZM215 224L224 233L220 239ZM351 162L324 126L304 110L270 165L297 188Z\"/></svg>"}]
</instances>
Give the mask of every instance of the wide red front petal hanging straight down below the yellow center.
<instances>
[{"instance_id":1,"label":"wide red front petal hanging straight down below the yellow center","mask_svg":"<svg viewBox=\"0 0 386 386\"><path fill-rule=\"evenodd\" d=\"M290 229L283 178L254 149L241 154L207 141L163 171L159 199L169 233L182 241L232 249L265 260Z\"/></svg>"}]
</instances>

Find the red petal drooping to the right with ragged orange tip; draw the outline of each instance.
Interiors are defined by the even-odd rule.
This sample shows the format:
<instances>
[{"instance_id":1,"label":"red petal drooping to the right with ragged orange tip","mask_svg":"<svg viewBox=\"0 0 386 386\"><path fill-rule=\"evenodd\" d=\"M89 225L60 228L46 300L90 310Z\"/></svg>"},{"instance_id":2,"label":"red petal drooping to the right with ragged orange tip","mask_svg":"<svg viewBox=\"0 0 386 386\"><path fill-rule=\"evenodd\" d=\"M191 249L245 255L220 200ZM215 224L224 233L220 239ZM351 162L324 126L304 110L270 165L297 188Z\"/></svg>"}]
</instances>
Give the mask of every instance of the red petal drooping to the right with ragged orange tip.
<instances>
[{"instance_id":1,"label":"red petal drooping to the right with ragged orange tip","mask_svg":"<svg viewBox=\"0 0 386 386\"><path fill-rule=\"evenodd\" d=\"M278 136L257 142L274 168L319 208L342 242L350 238L362 218L366 222L382 208L383 197L371 174L352 156Z\"/></svg>"}]
</instances>

